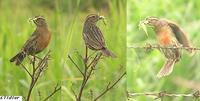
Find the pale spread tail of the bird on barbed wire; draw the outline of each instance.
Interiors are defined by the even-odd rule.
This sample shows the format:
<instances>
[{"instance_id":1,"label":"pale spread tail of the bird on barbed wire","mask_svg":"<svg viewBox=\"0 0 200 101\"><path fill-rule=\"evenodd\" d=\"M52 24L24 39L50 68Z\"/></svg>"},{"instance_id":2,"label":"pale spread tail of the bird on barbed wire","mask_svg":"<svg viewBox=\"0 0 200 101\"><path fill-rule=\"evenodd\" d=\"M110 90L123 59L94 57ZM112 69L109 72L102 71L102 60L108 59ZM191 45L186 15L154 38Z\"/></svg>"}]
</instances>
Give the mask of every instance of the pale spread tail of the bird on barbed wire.
<instances>
[{"instance_id":1,"label":"pale spread tail of the bird on barbed wire","mask_svg":"<svg viewBox=\"0 0 200 101\"><path fill-rule=\"evenodd\" d=\"M167 60L164 64L164 66L161 68L161 70L157 74L157 77L161 78L161 77L171 74L175 63L176 63L176 60L174 60L174 59Z\"/></svg>"}]
</instances>

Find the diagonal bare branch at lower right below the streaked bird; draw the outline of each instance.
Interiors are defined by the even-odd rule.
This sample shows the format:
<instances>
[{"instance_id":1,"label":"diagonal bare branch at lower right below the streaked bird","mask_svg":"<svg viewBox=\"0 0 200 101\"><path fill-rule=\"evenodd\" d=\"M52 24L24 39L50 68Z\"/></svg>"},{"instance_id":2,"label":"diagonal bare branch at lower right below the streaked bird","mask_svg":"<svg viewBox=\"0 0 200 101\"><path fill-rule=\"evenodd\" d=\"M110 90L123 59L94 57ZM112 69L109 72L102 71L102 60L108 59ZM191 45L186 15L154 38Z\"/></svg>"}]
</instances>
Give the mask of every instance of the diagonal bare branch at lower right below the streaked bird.
<instances>
[{"instance_id":1,"label":"diagonal bare branch at lower right below the streaked bird","mask_svg":"<svg viewBox=\"0 0 200 101\"><path fill-rule=\"evenodd\" d=\"M106 89L99 96L97 96L93 101L97 101L99 98L105 95L108 91L110 91L125 75L126 75L126 72L124 72L112 85L109 82Z\"/></svg>"}]
</instances>

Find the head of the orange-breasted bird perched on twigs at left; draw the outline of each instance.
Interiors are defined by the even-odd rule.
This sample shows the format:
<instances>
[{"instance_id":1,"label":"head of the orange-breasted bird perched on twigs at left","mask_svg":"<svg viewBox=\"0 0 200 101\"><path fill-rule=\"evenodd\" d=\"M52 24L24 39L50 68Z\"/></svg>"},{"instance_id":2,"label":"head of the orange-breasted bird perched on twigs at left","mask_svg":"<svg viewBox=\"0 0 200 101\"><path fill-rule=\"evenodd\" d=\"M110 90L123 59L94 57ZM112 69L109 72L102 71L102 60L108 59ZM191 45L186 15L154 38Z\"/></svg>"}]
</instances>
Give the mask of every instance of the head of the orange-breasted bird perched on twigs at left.
<instances>
[{"instance_id":1,"label":"head of the orange-breasted bird perched on twigs at left","mask_svg":"<svg viewBox=\"0 0 200 101\"><path fill-rule=\"evenodd\" d=\"M41 26L46 26L46 21L43 16L35 16L33 18L29 19L30 21L33 21L36 26L41 27Z\"/></svg>"}]
</instances>

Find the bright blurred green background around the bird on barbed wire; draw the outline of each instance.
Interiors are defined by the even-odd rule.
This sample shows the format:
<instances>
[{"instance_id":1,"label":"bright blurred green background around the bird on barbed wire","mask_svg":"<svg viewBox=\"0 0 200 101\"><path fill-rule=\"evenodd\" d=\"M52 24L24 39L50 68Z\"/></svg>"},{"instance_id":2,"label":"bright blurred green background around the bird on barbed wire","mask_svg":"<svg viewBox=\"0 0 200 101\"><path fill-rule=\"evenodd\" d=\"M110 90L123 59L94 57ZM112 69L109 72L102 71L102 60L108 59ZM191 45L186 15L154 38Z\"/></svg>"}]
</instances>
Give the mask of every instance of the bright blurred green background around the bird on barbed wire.
<instances>
[{"instance_id":1,"label":"bright blurred green background around the bird on barbed wire","mask_svg":"<svg viewBox=\"0 0 200 101\"><path fill-rule=\"evenodd\" d=\"M139 30L139 21L156 16L178 23L187 32L194 47L200 47L200 1L199 0L127 0L127 46L156 44L155 33L148 28L147 37ZM200 55L182 52L182 59L168 77L156 78L164 64L164 56L158 50L127 48L127 89L129 92L193 93L200 89ZM131 101L154 101L155 97L132 97ZM165 97L164 101L193 101L192 98Z\"/></svg>"}]
</instances>

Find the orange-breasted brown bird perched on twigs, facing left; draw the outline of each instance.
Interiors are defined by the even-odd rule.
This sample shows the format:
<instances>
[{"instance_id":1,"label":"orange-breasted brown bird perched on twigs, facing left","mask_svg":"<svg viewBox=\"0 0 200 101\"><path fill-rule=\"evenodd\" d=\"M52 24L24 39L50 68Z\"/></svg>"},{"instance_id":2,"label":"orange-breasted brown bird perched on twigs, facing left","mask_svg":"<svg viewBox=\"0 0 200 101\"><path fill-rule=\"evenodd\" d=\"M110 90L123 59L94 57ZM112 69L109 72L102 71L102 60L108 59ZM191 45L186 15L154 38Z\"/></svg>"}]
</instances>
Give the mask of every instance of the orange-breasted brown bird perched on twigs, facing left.
<instances>
[{"instance_id":1,"label":"orange-breasted brown bird perched on twigs, facing left","mask_svg":"<svg viewBox=\"0 0 200 101\"><path fill-rule=\"evenodd\" d=\"M36 29L25 42L20 52L10 59L10 62L15 62L16 65L20 65L26 56L35 56L40 53L50 43L51 32L48 29L45 18L43 16L35 16L29 20L35 23Z\"/></svg>"}]
</instances>

